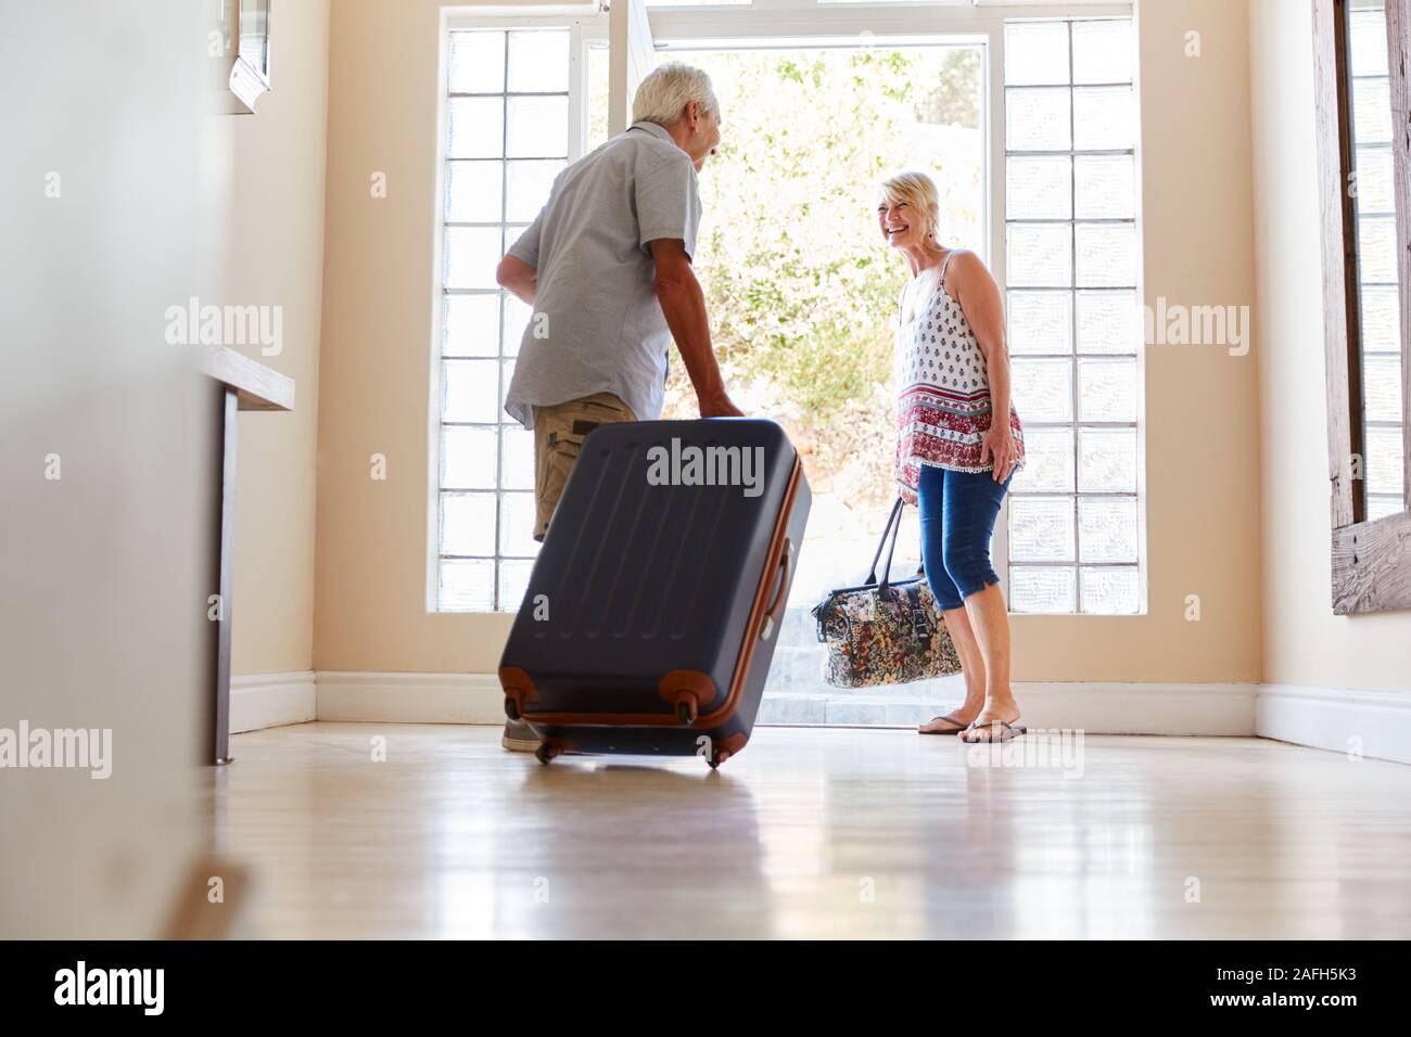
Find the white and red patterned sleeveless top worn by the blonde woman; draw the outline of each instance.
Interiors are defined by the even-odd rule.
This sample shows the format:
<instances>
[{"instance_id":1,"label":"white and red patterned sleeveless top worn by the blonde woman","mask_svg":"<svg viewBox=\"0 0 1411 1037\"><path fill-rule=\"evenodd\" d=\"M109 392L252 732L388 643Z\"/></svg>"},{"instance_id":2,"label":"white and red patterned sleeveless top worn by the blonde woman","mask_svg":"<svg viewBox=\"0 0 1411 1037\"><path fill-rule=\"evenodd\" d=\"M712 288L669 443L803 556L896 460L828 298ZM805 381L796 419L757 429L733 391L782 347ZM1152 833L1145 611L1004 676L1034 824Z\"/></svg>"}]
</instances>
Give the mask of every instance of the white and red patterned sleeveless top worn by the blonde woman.
<instances>
[{"instance_id":1,"label":"white and red patterned sleeveless top worn by the blonde woman","mask_svg":"<svg viewBox=\"0 0 1411 1037\"><path fill-rule=\"evenodd\" d=\"M991 423L985 354L961 305L941 286L952 255L934 274L921 271L907 285L897 317L896 481L909 504L916 504L923 464L951 471L993 468L989 459L981 460L981 437ZM1013 404L1009 427L1017 471L1024 467L1024 429Z\"/></svg>"}]
</instances>

